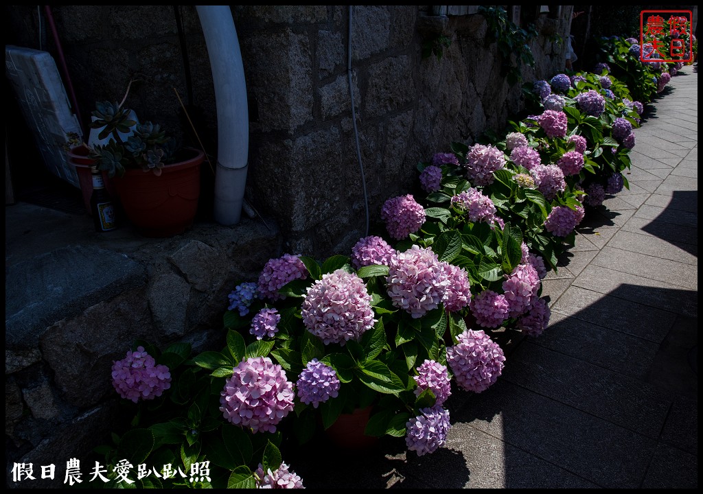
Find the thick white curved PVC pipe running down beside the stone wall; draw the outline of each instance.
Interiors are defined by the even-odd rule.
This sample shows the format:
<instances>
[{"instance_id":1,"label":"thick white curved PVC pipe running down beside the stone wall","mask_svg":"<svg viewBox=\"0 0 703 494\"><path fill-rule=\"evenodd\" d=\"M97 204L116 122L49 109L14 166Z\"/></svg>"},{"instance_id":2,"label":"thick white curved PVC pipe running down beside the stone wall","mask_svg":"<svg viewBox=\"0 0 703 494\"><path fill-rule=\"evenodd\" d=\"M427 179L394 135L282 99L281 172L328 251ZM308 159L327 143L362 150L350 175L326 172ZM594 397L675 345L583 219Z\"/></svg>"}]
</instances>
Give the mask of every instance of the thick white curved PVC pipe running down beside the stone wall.
<instances>
[{"instance_id":1,"label":"thick white curved PVC pipe running down beside the stone wall","mask_svg":"<svg viewBox=\"0 0 703 494\"><path fill-rule=\"evenodd\" d=\"M249 111L242 53L229 6L195 7L205 35L217 104L217 171L214 219L239 222L249 157Z\"/></svg>"}]
</instances>

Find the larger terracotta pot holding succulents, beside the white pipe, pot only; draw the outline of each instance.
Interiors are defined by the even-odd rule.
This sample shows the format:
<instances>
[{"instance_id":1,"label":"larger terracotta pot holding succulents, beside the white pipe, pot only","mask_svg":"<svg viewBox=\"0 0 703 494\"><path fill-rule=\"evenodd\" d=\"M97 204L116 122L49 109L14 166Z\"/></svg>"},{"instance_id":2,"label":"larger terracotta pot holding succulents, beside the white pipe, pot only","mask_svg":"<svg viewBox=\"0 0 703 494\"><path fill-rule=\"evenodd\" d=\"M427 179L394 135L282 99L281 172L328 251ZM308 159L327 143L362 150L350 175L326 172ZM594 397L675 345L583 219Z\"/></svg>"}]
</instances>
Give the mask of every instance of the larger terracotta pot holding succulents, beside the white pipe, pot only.
<instances>
[{"instance_id":1,"label":"larger terracotta pot holding succulents, beside the white pipe, pot only","mask_svg":"<svg viewBox=\"0 0 703 494\"><path fill-rule=\"evenodd\" d=\"M160 176L152 171L128 169L115 177L122 209L145 237L179 235L193 226L200 197L200 164L205 154L182 150L183 160L167 164Z\"/></svg>"}]
</instances>

